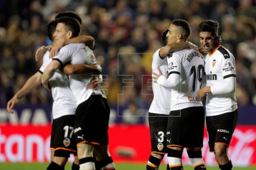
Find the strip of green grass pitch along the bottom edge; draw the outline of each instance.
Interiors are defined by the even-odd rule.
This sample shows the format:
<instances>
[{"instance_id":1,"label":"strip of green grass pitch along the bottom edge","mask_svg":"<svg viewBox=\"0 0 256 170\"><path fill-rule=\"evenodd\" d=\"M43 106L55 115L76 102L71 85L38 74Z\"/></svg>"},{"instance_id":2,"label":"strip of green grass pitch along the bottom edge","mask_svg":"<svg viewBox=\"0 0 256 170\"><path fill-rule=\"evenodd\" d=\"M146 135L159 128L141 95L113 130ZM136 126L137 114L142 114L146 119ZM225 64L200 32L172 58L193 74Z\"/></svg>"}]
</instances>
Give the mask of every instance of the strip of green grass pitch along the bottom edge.
<instances>
[{"instance_id":1,"label":"strip of green grass pitch along the bottom edge","mask_svg":"<svg viewBox=\"0 0 256 170\"><path fill-rule=\"evenodd\" d=\"M46 170L47 163L0 163L0 170ZM207 170L219 170L218 167L206 165ZM117 170L145 170L146 164L134 163L116 163ZM165 165L161 164L159 170L165 170ZM192 166L184 166L185 170L193 170ZM255 170L256 166L250 167L233 167L233 170ZM71 170L71 164L67 164L65 170Z\"/></svg>"}]
</instances>

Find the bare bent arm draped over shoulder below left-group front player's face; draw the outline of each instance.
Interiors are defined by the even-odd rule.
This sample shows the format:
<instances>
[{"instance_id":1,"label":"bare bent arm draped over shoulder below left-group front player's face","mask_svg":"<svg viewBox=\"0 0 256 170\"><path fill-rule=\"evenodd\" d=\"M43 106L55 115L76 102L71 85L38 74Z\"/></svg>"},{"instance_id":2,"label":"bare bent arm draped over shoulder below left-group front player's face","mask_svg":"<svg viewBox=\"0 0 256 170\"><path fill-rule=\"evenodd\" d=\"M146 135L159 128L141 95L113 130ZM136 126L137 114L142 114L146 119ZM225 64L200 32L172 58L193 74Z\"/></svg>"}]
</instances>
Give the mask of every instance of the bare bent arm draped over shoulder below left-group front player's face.
<instances>
[{"instance_id":1,"label":"bare bent arm draped over shoulder below left-group front player's face","mask_svg":"<svg viewBox=\"0 0 256 170\"><path fill-rule=\"evenodd\" d=\"M93 37L85 36L85 35L78 36L78 37L68 39L67 41L64 41L64 42L58 42L58 44L54 45L50 51L50 58L53 58L53 56L57 55L57 53L61 47L63 47L64 45L67 45L67 44L71 44L71 43L84 43L87 46L89 46L89 48L91 48L91 50L94 50L94 47L95 47Z\"/></svg>"}]
</instances>

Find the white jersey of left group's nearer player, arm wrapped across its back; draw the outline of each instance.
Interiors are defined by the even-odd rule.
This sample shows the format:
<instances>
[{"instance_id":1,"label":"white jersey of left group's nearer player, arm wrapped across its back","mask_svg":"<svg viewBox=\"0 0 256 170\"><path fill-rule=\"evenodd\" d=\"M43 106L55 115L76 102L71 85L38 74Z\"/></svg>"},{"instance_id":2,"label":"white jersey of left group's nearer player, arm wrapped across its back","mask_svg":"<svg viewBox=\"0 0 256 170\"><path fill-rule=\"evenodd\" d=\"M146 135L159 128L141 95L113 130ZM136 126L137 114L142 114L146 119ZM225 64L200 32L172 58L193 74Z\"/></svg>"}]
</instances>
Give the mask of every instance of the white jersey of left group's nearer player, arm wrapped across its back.
<instances>
[{"instance_id":1,"label":"white jersey of left group's nearer player, arm wrapped across its back","mask_svg":"<svg viewBox=\"0 0 256 170\"><path fill-rule=\"evenodd\" d=\"M93 51L81 43L68 44L63 46L59 53L54 56L62 64L70 62L71 64L95 64L97 63ZM98 90L87 89L86 86L92 80L93 72L87 74L73 74L69 75L70 88L76 98L77 106L86 101L92 93L101 94L106 98L102 87L99 85Z\"/></svg>"}]
</instances>

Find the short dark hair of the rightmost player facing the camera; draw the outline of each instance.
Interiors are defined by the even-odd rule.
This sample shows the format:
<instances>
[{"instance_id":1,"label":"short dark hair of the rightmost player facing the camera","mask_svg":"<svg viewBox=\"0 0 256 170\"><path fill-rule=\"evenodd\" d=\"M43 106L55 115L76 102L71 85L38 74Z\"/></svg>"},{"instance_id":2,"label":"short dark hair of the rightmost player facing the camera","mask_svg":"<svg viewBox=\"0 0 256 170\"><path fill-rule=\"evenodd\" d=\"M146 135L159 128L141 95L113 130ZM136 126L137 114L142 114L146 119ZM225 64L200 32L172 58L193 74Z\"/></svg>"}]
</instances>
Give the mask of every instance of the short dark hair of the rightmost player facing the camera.
<instances>
[{"instance_id":1,"label":"short dark hair of the rightmost player facing the camera","mask_svg":"<svg viewBox=\"0 0 256 170\"><path fill-rule=\"evenodd\" d=\"M198 32L209 32L212 33L213 38L219 35L218 33L219 23L213 20L205 20L199 23Z\"/></svg>"}]
</instances>

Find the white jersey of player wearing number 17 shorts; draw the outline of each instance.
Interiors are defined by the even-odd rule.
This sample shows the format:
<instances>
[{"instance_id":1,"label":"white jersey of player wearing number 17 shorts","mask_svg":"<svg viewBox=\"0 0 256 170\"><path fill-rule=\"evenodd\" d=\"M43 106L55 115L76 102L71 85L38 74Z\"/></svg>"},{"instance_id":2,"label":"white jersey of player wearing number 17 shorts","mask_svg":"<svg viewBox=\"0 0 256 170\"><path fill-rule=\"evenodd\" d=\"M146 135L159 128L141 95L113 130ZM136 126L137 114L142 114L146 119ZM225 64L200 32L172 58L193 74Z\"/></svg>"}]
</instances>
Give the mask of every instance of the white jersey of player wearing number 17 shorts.
<instances>
[{"instance_id":1,"label":"white jersey of player wearing number 17 shorts","mask_svg":"<svg viewBox=\"0 0 256 170\"><path fill-rule=\"evenodd\" d=\"M47 51L44 54L43 65L39 69L39 72L43 74L45 68L52 61L49 58L50 52ZM52 116L53 119L57 119L65 115L75 115L76 112L76 100L73 93L69 88L68 76L63 72L57 70L52 78L49 80L51 87L53 104L52 104Z\"/></svg>"}]
</instances>

